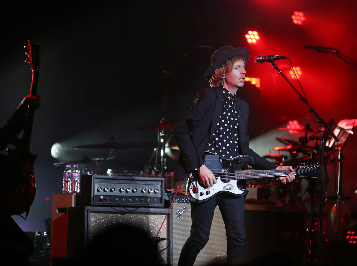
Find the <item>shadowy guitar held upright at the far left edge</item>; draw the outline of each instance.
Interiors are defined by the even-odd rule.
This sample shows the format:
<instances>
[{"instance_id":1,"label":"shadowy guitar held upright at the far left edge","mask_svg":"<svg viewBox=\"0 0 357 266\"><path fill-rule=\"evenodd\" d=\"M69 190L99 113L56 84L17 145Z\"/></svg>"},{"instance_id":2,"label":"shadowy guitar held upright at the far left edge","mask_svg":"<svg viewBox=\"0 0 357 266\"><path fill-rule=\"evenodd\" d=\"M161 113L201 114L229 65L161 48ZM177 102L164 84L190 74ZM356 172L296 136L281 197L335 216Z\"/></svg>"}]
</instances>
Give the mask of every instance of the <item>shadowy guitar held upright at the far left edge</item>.
<instances>
[{"instance_id":1,"label":"shadowy guitar held upright at the far left edge","mask_svg":"<svg viewBox=\"0 0 357 266\"><path fill-rule=\"evenodd\" d=\"M30 95L35 96L37 94L37 82L39 77L40 44L34 44L31 43L30 40L27 40L27 46L25 46L25 48L28 49L28 51L25 52L25 55L27 55L25 62L30 64L32 70ZM11 187L1 189L1 202L7 205L6 208L10 211L11 215L26 212L27 217L30 206L35 199L36 181L33 173L33 165L37 155L30 153L34 111L35 107L29 104L24 134L22 135L20 145L14 150L7 149L9 166L13 171L13 176L10 177L12 179Z\"/></svg>"}]
</instances>

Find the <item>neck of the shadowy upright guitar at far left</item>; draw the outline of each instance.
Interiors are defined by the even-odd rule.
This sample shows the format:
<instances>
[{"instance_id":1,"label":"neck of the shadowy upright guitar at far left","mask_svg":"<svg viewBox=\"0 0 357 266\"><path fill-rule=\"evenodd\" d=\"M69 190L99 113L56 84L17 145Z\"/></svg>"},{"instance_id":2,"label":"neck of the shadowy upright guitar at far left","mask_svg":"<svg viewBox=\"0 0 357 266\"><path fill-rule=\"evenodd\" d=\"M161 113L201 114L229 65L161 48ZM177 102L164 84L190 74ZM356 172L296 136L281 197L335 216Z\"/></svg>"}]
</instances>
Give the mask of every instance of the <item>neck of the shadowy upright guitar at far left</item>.
<instances>
[{"instance_id":1,"label":"neck of the shadowy upright guitar at far left","mask_svg":"<svg viewBox=\"0 0 357 266\"><path fill-rule=\"evenodd\" d=\"M31 82L31 89L30 95L35 96L37 94L37 82L39 80L39 72L33 71L32 72L32 82ZM31 133L32 133L32 124L34 122L34 113L35 107L29 104L27 108L27 117L26 117L26 125L24 129L24 134L22 135L22 143L24 144L23 148L26 152L30 152L30 143L31 143Z\"/></svg>"}]
</instances>

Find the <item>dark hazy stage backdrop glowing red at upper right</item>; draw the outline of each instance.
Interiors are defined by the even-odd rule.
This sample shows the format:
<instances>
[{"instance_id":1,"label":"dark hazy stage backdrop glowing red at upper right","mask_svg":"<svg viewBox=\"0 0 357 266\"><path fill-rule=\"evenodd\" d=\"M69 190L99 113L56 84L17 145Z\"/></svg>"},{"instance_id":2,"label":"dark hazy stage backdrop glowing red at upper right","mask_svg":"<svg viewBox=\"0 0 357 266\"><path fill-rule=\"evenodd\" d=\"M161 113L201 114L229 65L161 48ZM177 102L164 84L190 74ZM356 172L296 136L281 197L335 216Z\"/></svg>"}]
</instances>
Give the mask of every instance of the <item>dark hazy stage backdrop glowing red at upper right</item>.
<instances>
[{"instance_id":1,"label":"dark hazy stage backdrop glowing red at upper right","mask_svg":"<svg viewBox=\"0 0 357 266\"><path fill-rule=\"evenodd\" d=\"M302 25L292 23L294 11L304 12ZM24 231L45 230L51 195L62 187L64 167L54 167L57 160L50 153L56 142L66 145L66 159L106 156L107 151L70 147L107 142L110 137L145 143L149 147L117 150L121 164L143 169L156 132L137 127L158 123L163 116L162 72L170 71L166 119L176 123L193 105L198 90L209 86L204 74L210 57L224 45L248 46L247 76L261 79L260 89L247 82L238 92L250 102L252 138L311 116L268 63L253 62L260 54L285 55L301 67L307 98L323 118L336 123L357 118L356 70L336 56L303 49L337 47L356 61L356 14L352 0L36 1L24 6L1 1L1 125L29 93L31 72L24 63L23 45L29 38L41 43L41 108L35 113L31 143L31 152L39 155L37 194L27 221L15 217L16 221ZM256 45L247 43L248 30L260 34ZM284 71L290 68L286 60L278 65ZM353 136L344 168L352 203L356 143ZM175 161L168 160L172 171ZM1 177L1 182L6 179Z\"/></svg>"}]
</instances>

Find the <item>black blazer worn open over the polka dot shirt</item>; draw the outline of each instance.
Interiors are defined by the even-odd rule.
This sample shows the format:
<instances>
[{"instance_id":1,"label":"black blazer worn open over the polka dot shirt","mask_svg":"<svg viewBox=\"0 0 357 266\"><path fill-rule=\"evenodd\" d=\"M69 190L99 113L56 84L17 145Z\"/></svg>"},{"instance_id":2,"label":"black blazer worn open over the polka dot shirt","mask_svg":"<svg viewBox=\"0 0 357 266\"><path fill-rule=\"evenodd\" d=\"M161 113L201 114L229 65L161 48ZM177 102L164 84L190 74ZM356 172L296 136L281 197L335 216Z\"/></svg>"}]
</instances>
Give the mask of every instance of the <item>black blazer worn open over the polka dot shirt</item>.
<instances>
[{"instance_id":1,"label":"black blazer worn open over the polka dot shirt","mask_svg":"<svg viewBox=\"0 0 357 266\"><path fill-rule=\"evenodd\" d=\"M276 169L276 165L260 157L249 148L247 133L249 106L240 98L238 102L238 150L239 154L247 154L254 159L256 170ZM176 124L172 131L180 157L178 158L175 181L180 181L201 167L205 162L205 151L223 107L222 86L202 89L198 92L197 102ZM240 111L240 112L239 112Z\"/></svg>"}]
</instances>

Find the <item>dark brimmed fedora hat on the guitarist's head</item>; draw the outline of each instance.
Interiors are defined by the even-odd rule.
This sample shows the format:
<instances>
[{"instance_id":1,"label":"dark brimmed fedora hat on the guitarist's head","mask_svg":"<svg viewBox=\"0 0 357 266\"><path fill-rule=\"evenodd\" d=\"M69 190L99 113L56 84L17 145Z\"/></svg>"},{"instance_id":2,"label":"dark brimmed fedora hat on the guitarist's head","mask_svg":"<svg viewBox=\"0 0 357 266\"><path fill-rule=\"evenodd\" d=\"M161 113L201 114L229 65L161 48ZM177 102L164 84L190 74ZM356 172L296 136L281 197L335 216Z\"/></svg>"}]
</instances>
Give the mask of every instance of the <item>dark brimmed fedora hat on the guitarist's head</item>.
<instances>
[{"instance_id":1,"label":"dark brimmed fedora hat on the guitarist's head","mask_svg":"<svg viewBox=\"0 0 357 266\"><path fill-rule=\"evenodd\" d=\"M247 47L237 47L233 48L230 45L223 46L215 51L211 57L211 66L208 68L205 78L206 80L210 80L213 73L215 73L216 69L220 67L220 65L226 61L228 58L233 56L243 56L245 61L248 61L249 58L249 49Z\"/></svg>"}]
</instances>

